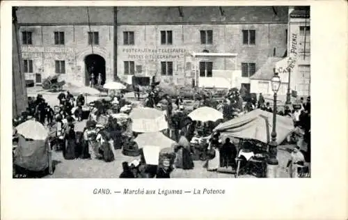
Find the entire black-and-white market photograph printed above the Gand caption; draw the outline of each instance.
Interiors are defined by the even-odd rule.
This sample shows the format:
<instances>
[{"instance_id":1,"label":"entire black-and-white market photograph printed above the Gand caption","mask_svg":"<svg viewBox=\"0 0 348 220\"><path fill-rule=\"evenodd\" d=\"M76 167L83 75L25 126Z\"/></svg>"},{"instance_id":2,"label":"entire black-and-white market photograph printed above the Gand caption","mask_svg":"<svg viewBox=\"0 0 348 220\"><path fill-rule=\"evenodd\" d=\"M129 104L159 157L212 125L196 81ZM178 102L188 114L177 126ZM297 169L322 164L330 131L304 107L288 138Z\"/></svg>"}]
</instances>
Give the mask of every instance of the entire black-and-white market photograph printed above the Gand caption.
<instances>
[{"instance_id":1,"label":"entire black-and-white market photograph printed above the Gand caption","mask_svg":"<svg viewBox=\"0 0 348 220\"><path fill-rule=\"evenodd\" d=\"M13 178L310 178L310 8L13 6Z\"/></svg>"}]
</instances>

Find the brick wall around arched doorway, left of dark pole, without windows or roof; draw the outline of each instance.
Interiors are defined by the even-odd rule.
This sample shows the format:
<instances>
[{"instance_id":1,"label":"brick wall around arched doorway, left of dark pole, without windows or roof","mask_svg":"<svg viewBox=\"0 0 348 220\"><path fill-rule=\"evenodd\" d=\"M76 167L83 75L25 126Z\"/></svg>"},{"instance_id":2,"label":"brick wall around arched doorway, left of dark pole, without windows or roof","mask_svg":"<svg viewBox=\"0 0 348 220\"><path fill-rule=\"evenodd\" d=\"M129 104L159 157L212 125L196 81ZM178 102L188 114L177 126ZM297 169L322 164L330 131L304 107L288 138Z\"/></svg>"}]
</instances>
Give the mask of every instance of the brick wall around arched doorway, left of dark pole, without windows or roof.
<instances>
[{"instance_id":1,"label":"brick wall around arched doorway, left of dark pole, without windows or roof","mask_svg":"<svg viewBox=\"0 0 348 220\"><path fill-rule=\"evenodd\" d=\"M88 45L88 31L99 32L99 45L93 45L93 53L102 56L106 61L106 81L113 81L113 26L21 26L22 31L32 31L33 45L22 45L24 59L33 60L33 74L26 74L26 79L34 77L35 73L46 78L55 74L55 61L65 61L65 74L60 74L60 80L65 80L77 86L84 86L84 58L92 54ZM54 31L64 31L65 45L54 45Z\"/></svg>"}]
</instances>

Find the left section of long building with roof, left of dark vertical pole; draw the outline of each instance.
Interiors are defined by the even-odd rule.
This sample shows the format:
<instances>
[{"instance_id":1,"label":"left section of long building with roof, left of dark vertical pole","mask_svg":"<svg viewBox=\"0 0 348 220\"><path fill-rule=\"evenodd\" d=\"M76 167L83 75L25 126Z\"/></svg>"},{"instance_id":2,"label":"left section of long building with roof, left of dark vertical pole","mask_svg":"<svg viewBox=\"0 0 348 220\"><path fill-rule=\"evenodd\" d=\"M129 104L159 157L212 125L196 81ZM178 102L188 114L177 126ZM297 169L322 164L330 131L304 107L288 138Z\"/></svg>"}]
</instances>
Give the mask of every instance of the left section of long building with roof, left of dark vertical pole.
<instances>
[{"instance_id":1,"label":"left section of long building with roof, left of dark vertical pole","mask_svg":"<svg viewBox=\"0 0 348 220\"><path fill-rule=\"evenodd\" d=\"M113 80L112 8L26 7L17 14L26 80L41 84L58 74L85 86L93 62L104 81Z\"/></svg>"}]
</instances>

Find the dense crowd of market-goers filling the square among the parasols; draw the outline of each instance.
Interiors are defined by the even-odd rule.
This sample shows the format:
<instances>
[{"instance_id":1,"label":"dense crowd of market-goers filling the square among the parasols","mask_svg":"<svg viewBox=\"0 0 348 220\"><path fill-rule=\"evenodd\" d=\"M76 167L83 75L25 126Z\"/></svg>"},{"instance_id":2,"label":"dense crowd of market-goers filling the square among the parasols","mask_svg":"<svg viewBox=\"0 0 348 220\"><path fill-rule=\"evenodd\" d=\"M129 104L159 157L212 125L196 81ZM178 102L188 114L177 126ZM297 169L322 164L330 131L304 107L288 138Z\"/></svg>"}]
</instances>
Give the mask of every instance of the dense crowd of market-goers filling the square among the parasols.
<instances>
[{"instance_id":1,"label":"dense crowd of market-goers filling the square among the parasols","mask_svg":"<svg viewBox=\"0 0 348 220\"><path fill-rule=\"evenodd\" d=\"M168 130L164 134L176 141L174 153L161 155L161 163L153 166L145 163L140 149L141 159L122 163L123 172L120 178L170 178L175 168L192 169L195 157L207 162L208 171L216 171L219 167L227 168L228 166L235 169L237 148L228 138L225 143L221 143L220 134L212 132L214 127L254 109L273 111L269 102L265 102L262 93L258 100L254 97L245 100L237 89L232 88L223 100L216 101L214 95L200 91L195 95L193 110L207 106L223 113L223 120L201 123L188 117L191 109L185 106L180 95L171 97L171 95L160 95L160 93L157 85L151 86L143 105L166 112ZM122 93L111 94L108 98L91 102L88 104L88 110L84 109L86 98L83 94L75 98L67 91L60 93L57 99L59 105L52 109L42 95L39 94L36 99L31 98L29 107L22 116L14 120L14 125L29 118L35 118L43 125L56 125L55 146L57 150L62 150L65 159L103 159L105 162L113 162L114 150L125 148L129 144L136 146L133 140L137 134L128 131L125 135L127 126L122 127L120 122L111 116L130 104ZM277 113L294 120L297 132L294 132L287 141L296 139L296 135L301 136L301 140L308 146L309 156L306 156L310 158L310 97L307 98L307 102L304 102L301 97L300 102L300 104L294 104L292 110L285 106L284 111ZM88 112L87 115L86 112ZM83 119L87 119L86 127L83 131L76 132L74 121ZM301 163L301 151L296 149L292 152L290 164Z\"/></svg>"}]
</instances>

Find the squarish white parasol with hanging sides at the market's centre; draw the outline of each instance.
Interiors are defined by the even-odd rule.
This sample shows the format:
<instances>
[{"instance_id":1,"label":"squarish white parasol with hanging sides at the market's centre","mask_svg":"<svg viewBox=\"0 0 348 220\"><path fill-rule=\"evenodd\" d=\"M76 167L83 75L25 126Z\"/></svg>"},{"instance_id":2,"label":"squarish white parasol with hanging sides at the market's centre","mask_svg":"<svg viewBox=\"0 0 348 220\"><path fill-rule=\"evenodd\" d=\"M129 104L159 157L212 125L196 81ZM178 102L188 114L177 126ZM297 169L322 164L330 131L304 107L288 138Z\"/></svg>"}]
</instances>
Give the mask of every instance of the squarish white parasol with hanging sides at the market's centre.
<instances>
[{"instance_id":1,"label":"squarish white parasol with hanging sides at the market's centre","mask_svg":"<svg viewBox=\"0 0 348 220\"><path fill-rule=\"evenodd\" d=\"M135 108L129 114L133 132L159 132L168 128L166 116L162 111L152 108Z\"/></svg>"}]
</instances>

